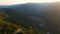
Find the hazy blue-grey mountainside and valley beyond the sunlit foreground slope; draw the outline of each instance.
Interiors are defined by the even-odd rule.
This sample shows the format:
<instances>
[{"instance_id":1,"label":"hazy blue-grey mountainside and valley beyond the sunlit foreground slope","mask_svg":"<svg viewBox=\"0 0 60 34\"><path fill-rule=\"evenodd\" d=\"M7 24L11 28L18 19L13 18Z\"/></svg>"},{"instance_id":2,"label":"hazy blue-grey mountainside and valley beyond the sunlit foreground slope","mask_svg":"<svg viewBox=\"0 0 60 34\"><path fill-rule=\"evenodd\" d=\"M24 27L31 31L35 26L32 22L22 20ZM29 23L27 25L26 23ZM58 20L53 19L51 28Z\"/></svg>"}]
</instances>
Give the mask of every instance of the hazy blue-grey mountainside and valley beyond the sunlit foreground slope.
<instances>
[{"instance_id":1,"label":"hazy blue-grey mountainside and valley beyond the sunlit foreground slope","mask_svg":"<svg viewBox=\"0 0 60 34\"><path fill-rule=\"evenodd\" d=\"M46 32L58 34L60 30L59 6L59 3L27 3L12 5L0 10L10 16L6 20L11 23L27 28L32 26L38 30L42 29Z\"/></svg>"}]
</instances>

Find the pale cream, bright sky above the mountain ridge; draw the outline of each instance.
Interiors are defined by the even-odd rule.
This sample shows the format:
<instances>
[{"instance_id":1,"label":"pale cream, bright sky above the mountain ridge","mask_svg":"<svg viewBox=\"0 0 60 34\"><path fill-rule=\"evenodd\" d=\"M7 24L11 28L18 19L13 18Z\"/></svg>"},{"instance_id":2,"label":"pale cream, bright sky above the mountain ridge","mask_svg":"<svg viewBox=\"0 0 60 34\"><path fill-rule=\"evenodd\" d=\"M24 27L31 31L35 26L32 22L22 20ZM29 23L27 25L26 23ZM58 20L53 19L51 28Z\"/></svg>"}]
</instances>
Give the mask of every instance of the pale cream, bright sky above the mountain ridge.
<instances>
[{"instance_id":1,"label":"pale cream, bright sky above the mountain ridge","mask_svg":"<svg viewBox=\"0 0 60 34\"><path fill-rule=\"evenodd\" d=\"M23 3L44 3L44 2L56 2L60 0L0 0L0 5L14 5Z\"/></svg>"}]
</instances>

